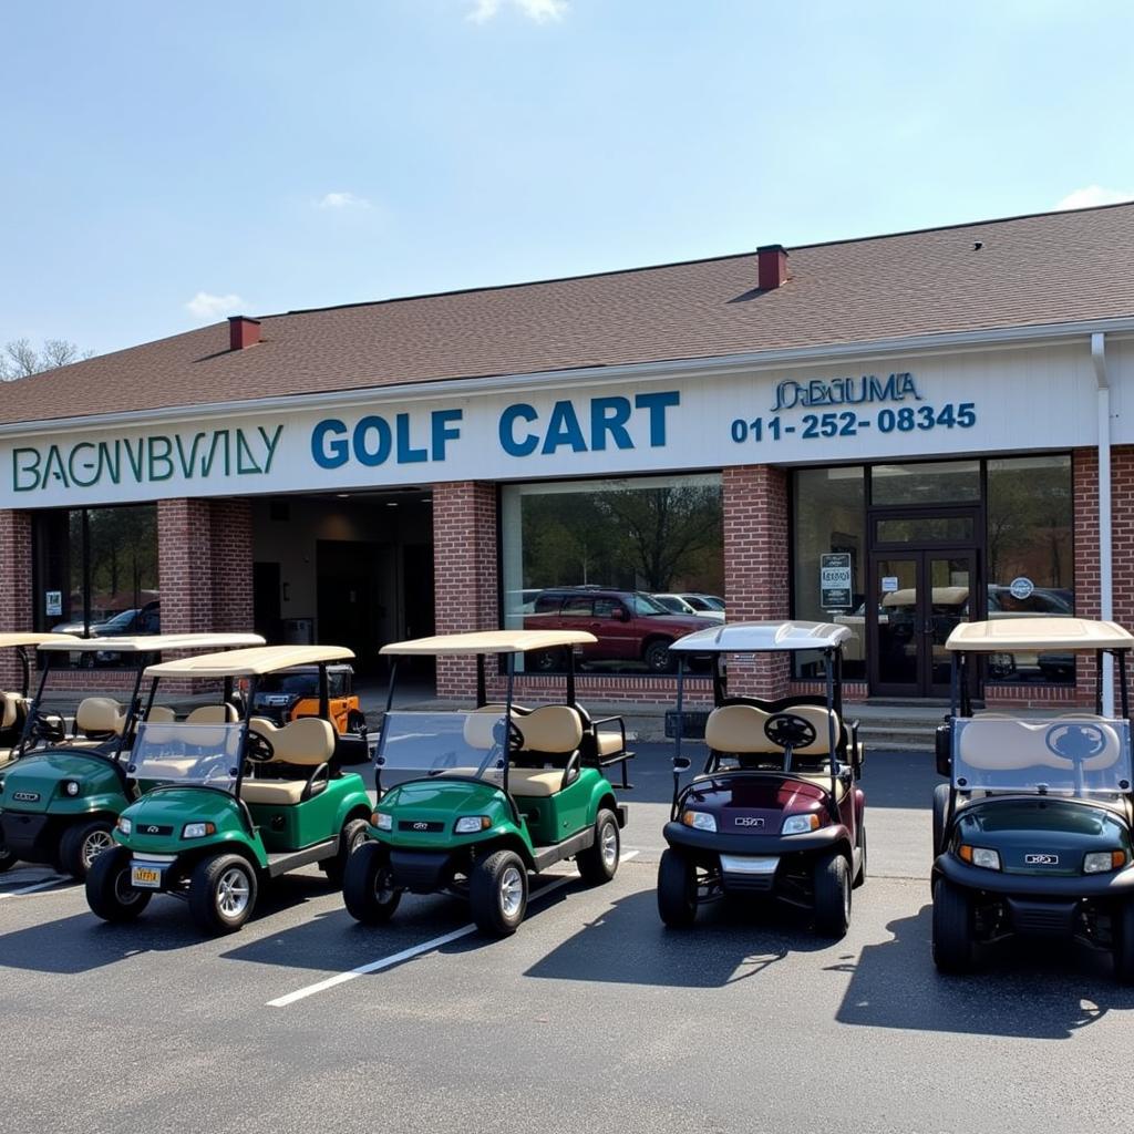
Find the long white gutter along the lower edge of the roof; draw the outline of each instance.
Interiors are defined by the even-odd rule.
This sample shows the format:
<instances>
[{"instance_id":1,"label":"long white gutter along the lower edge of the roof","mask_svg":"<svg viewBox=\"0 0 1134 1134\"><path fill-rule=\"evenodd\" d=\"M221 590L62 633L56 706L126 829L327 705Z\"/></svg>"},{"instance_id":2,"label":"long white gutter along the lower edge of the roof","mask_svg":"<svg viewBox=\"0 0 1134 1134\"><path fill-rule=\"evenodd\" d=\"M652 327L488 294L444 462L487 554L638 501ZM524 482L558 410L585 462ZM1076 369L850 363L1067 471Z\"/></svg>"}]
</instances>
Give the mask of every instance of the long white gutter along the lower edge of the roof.
<instances>
[{"instance_id":1,"label":"long white gutter along the lower edge of the roof","mask_svg":"<svg viewBox=\"0 0 1134 1134\"><path fill-rule=\"evenodd\" d=\"M398 386L361 387L328 390L321 393L289 393L270 398L202 403L192 406L159 406L153 409L124 409L79 417L52 417L33 422L0 424L0 437L46 433L59 429L86 430L107 425L163 424L200 421L232 414L287 412L319 407L347 408L382 401L421 401L437 398L483 397L533 389L577 389L583 384L616 386L623 382L665 381L680 378L713 378L752 373L769 369L814 366L841 361L865 362L897 354L955 354L958 350L1013 349L1052 341L1074 342L1084 336L1134 335L1134 318L1043 323L1034 327L993 328L982 331L949 331L892 339L871 339L819 347L785 347L709 358L675 358L665 362L627 363L617 366L578 366L569 370L535 371L526 374L484 375L481 378L432 379Z\"/></svg>"}]
</instances>

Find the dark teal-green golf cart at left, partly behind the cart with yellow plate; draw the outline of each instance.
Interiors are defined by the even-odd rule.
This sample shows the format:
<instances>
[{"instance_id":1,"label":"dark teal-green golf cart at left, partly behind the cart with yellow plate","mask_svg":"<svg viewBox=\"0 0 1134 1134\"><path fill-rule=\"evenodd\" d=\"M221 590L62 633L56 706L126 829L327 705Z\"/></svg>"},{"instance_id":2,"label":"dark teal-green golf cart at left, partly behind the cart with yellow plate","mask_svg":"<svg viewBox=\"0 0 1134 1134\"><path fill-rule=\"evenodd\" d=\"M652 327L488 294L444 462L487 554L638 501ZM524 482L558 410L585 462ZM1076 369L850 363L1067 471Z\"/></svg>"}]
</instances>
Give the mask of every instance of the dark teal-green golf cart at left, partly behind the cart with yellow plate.
<instances>
[{"instance_id":1,"label":"dark teal-green golf cart at left, partly behind the cart with yellow plate","mask_svg":"<svg viewBox=\"0 0 1134 1134\"><path fill-rule=\"evenodd\" d=\"M115 820L138 785L127 772L127 753L134 739L141 700L143 663L161 650L222 650L263 643L259 634L151 634L119 638L124 660L136 666L134 688L126 704L112 697L84 697L70 720L43 706L43 693L57 667L67 668L71 653L99 648L96 638L42 635L43 671L31 702L15 759L0 784L0 833L3 852L12 861L45 863L82 880L95 856L111 845ZM231 687L226 703L231 702ZM215 714L219 706L203 706L191 719ZM235 711L235 710L234 710ZM172 720L168 705L150 709L153 720Z\"/></svg>"}]
</instances>

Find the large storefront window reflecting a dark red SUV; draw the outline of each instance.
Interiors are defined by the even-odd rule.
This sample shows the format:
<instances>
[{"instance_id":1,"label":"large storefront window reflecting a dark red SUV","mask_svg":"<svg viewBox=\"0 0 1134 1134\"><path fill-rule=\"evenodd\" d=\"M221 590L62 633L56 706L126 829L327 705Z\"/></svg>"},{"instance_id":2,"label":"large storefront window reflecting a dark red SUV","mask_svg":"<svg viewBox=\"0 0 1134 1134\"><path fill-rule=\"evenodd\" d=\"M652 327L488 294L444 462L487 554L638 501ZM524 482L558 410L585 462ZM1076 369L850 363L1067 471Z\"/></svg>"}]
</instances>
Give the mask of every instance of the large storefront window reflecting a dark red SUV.
<instances>
[{"instance_id":1,"label":"large storefront window reflecting a dark red SUV","mask_svg":"<svg viewBox=\"0 0 1134 1134\"><path fill-rule=\"evenodd\" d=\"M511 484L501 515L503 625L594 634L584 671L670 672L667 644L721 620L705 612L723 595L719 475Z\"/></svg>"}]
</instances>

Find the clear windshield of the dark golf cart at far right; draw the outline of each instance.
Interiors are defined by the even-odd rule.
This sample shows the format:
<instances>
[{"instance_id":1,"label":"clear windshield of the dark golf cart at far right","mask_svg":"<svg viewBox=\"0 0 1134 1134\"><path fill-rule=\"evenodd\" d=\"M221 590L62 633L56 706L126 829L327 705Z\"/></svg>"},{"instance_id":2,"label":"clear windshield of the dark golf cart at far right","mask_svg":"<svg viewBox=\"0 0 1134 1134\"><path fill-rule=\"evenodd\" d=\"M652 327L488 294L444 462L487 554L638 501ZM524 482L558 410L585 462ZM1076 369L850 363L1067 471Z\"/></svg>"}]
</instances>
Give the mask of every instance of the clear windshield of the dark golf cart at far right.
<instances>
[{"instance_id":1,"label":"clear windshield of the dark golf cart at far right","mask_svg":"<svg viewBox=\"0 0 1134 1134\"><path fill-rule=\"evenodd\" d=\"M1128 793L1129 721L957 719L953 776L963 792Z\"/></svg>"}]
</instances>

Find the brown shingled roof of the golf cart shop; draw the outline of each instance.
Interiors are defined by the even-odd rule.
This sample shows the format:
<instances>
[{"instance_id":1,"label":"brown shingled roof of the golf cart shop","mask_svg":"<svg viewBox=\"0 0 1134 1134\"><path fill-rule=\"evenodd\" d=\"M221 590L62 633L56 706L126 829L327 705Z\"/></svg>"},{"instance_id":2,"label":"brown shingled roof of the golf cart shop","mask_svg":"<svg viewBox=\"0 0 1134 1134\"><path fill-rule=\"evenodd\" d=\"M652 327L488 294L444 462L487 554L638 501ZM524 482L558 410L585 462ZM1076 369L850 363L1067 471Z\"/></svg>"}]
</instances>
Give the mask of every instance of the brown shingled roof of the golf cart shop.
<instances>
[{"instance_id":1,"label":"brown shingled roof of the golf cart shop","mask_svg":"<svg viewBox=\"0 0 1134 1134\"><path fill-rule=\"evenodd\" d=\"M976 247L980 245L980 247ZM1134 204L220 323L0 388L0 423L1134 316Z\"/></svg>"}]
</instances>

